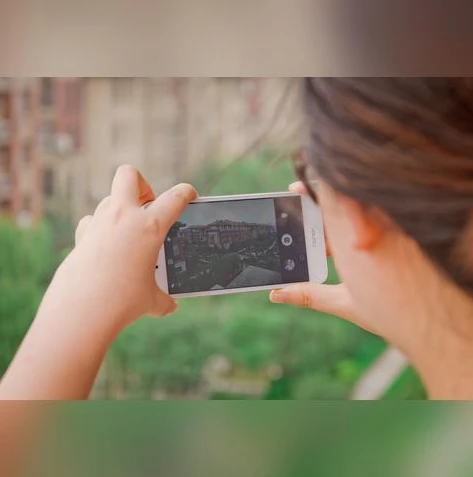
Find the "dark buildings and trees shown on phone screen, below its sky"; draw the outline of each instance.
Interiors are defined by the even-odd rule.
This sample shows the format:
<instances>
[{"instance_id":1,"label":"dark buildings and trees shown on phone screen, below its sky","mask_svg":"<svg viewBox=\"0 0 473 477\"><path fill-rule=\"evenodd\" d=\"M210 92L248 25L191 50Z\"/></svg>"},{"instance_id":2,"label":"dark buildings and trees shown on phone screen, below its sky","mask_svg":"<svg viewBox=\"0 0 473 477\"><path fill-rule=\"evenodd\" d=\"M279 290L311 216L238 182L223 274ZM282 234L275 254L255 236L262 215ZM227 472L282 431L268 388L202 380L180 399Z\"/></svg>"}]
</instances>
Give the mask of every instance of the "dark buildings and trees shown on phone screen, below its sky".
<instances>
[{"instance_id":1,"label":"dark buildings and trees shown on phone screen, below its sky","mask_svg":"<svg viewBox=\"0 0 473 477\"><path fill-rule=\"evenodd\" d=\"M168 236L167 266L174 293L280 283L276 226L217 219L178 222Z\"/></svg>"}]
</instances>

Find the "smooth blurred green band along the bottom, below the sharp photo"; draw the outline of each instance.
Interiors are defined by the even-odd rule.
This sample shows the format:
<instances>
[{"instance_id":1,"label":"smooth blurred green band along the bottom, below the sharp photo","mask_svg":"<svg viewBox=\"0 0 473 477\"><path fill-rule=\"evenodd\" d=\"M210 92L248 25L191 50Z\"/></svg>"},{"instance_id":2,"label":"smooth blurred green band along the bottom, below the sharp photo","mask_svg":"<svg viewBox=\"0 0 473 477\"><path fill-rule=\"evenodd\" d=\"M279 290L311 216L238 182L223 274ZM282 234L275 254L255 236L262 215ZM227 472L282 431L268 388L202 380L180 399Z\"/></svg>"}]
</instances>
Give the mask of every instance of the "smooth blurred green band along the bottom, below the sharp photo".
<instances>
[{"instance_id":1,"label":"smooth blurred green band along the bottom, below the sharp photo","mask_svg":"<svg viewBox=\"0 0 473 477\"><path fill-rule=\"evenodd\" d=\"M469 403L95 402L46 409L25 462L28 477L467 477L473 469ZM25 410L31 406L16 412Z\"/></svg>"}]
</instances>

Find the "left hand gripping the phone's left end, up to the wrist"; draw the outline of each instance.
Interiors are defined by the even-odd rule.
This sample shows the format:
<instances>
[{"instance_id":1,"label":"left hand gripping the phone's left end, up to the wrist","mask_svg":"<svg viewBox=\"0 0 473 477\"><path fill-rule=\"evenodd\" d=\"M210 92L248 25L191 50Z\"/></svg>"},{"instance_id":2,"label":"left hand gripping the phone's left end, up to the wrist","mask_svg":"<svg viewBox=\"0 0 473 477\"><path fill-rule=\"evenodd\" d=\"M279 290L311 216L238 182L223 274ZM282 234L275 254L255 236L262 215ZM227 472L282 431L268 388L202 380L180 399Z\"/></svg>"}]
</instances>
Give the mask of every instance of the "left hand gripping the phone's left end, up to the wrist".
<instances>
[{"instance_id":1,"label":"left hand gripping the phone's left end, up to the wrist","mask_svg":"<svg viewBox=\"0 0 473 477\"><path fill-rule=\"evenodd\" d=\"M179 184L156 198L134 167L121 166L110 195L79 223L76 247L45 301L68 300L85 317L110 316L119 329L144 314L172 313L176 302L156 285L155 266L169 228L196 197Z\"/></svg>"}]
</instances>

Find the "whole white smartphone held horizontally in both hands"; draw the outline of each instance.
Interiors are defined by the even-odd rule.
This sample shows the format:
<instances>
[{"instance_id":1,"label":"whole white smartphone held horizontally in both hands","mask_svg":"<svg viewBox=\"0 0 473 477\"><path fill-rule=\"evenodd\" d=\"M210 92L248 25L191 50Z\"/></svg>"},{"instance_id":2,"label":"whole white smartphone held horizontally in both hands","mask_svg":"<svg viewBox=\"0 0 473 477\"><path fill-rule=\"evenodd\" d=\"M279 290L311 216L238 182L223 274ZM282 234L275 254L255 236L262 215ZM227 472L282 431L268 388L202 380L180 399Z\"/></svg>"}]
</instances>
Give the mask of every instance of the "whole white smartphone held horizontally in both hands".
<instances>
[{"instance_id":1,"label":"whole white smartphone held horizontally in both hands","mask_svg":"<svg viewBox=\"0 0 473 477\"><path fill-rule=\"evenodd\" d=\"M290 192L199 198L169 231L156 265L158 286L174 297L326 278L321 211Z\"/></svg>"}]
</instances>

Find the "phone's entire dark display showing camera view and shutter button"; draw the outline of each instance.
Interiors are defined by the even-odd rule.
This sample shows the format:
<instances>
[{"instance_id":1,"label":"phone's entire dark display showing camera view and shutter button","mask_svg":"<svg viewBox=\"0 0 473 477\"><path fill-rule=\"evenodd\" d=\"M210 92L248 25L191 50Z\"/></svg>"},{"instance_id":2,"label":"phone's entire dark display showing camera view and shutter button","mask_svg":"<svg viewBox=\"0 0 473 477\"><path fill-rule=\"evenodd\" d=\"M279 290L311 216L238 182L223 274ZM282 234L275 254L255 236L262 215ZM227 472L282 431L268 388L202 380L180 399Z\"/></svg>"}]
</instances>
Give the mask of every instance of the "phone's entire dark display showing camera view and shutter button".
<instances>
[{"instance_id":1,"label":"phone's entire dark display showing camera view and shutter button","mask_svg":"<svg viewBox=\"0 0 473 477\"><path fill-rule=\"evenodd\" d=\"M172 294L309 280L300 197L191 204L164 247Z\"/></svg>"}]
</instances>

